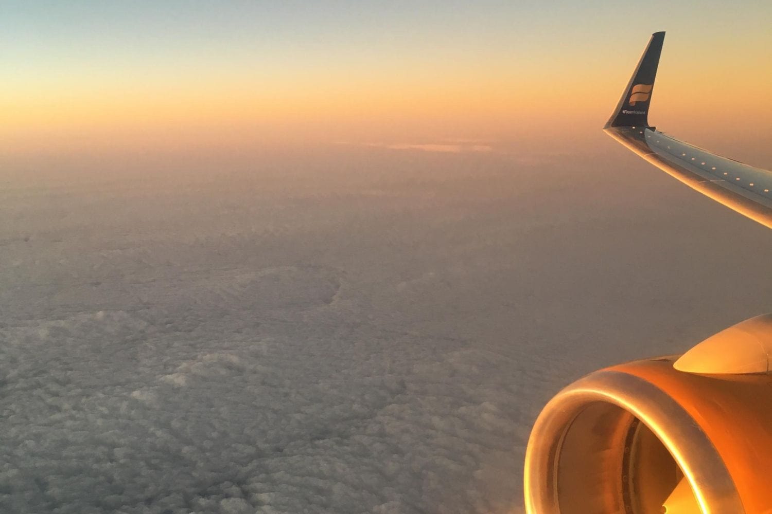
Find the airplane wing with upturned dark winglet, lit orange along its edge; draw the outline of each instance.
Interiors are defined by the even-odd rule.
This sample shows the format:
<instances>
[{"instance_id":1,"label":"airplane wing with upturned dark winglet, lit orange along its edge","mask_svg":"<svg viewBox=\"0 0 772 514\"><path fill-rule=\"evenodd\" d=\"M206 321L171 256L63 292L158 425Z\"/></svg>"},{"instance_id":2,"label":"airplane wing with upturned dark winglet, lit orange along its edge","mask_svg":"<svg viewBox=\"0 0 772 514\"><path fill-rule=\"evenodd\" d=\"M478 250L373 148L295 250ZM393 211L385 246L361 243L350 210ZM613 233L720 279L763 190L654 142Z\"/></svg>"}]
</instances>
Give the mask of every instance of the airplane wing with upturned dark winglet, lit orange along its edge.
<instances>
[{"instance_id":1,"label":"airplane wing with upturned dark winglet, lit orange along its edge","mask_svg":"<svg viewBox=\"0 0 772 514\"><path fill-rule=\"evenodd\" d=\"M772 228L772 172L718 156L648 125L665 32L655 32L604 132L660 170Z\"/></svg>"}]
</instances>

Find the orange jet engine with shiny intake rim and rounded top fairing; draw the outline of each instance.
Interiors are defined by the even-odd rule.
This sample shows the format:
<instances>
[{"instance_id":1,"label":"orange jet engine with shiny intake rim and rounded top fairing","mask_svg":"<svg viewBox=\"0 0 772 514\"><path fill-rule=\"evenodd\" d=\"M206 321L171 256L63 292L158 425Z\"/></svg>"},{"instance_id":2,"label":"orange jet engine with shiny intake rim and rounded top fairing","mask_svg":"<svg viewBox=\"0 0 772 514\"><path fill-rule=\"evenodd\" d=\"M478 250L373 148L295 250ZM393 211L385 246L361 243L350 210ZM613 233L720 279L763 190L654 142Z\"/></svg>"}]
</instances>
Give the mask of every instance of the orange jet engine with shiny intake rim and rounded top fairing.
<instances>
[{"instance_id":1,"label":"orange jet engine with shiny intake rim and rounded top fairing","mask_svg":"<svg viewBox=\"0 0 772 514\"><path fill-rule=\"evenodd\" d=\"M595 371L528 442L530 514L772 514L772 314Z\"/></svg>"}]
</instances>

